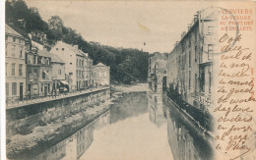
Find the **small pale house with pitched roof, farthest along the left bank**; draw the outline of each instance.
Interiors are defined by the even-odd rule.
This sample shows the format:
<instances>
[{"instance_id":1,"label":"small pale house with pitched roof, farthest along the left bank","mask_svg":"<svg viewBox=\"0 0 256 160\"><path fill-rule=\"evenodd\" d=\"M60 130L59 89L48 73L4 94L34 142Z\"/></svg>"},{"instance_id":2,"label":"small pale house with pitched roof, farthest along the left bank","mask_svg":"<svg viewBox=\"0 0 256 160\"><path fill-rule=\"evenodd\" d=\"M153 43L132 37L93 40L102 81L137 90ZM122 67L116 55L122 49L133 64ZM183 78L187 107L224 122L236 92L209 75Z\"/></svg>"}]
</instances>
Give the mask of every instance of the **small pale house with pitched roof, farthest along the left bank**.
<instances>
[{"instance_id":1,"label":"small pale house with pitched roof, farthest along the left bank","mask_svg":"<svg viewBox=\"0 0 256 160\"><path fill-rule=\"evenodd\" d=\"M109 76L110 68L102 63L98 63L93 69L94 86L102 86L110 84Z\"/></svg>"}]
</instances>

